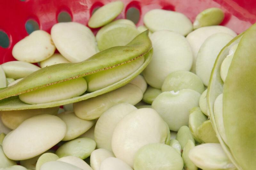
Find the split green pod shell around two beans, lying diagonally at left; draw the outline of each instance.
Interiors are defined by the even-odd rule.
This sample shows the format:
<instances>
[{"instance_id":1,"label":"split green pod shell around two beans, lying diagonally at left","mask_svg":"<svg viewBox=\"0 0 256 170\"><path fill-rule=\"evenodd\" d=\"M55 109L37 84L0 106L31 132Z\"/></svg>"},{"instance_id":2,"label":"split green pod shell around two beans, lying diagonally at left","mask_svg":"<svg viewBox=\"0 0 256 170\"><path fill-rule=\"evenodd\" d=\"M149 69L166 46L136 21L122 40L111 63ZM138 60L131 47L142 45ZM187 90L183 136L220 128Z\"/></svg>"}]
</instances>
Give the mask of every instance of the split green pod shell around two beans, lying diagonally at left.
<instances>
[{"instance_id":1,"label":"split green pod shell around two beans, lying diagonally at left","mask_svg":"<svg viewBox=\"0 0 256 170\"><path fill-rule=\"evenodd\" d=\"M79 102L91 97L99 96L121 86L124 86L148 65L152 58L152 44L148 38L148 31L142 32L126 46L116 46L101 51L89 59L79 63L62 63L44 67L28 76L17 84L0 90L0 110L24 110L36 108L48 108L68 103ZM81 96L57 100L47 103L26 104L18 95L30 93L34 90L48 86L58 85L65 81L78 79L87 75L104 72L114 67L125 65L144 57L144 62L130 75L125 75L121 80L113 82L102 89Z\"/></svg>"}]
</instances>

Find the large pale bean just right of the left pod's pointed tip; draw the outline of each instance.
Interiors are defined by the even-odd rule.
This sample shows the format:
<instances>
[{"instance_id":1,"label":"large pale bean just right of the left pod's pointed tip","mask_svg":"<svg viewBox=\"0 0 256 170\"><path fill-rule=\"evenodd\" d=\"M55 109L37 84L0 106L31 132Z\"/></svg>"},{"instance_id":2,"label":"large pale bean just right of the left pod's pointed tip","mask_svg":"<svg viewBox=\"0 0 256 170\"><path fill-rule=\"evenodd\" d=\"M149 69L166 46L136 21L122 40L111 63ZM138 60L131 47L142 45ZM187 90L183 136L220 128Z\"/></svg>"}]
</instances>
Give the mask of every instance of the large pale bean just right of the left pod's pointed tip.
<instances>
[{"instance_id":1,"label":"large pale bean just right of the left pod's pointed tip","mask_svg":"<svg viewBox=\"0 0 256 170\"><path fill-rule=\"evenodd\" d=\"M173 71L189 71L193 53L187 39L176 32L156 31L150 36L153 58L143 71L147 83L161 89L165 77Z\"/></svg>"}]
</instances>

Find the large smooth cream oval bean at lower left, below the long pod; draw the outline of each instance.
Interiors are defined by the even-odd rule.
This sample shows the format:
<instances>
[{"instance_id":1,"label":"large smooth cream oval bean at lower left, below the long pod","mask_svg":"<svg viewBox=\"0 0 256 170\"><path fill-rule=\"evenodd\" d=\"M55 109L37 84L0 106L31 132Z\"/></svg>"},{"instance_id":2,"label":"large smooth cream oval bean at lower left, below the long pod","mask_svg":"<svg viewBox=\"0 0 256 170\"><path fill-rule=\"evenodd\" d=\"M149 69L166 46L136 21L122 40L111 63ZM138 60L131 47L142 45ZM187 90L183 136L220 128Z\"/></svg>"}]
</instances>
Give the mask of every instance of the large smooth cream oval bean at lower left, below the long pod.
<instances>
[{"instance_id":1,"label":"large smooth cream oval bean at lower left, below the long pod","mask_svg":"<svg viewBox=\"0 0 256 170\"><path fill-rule=\"evenodd\" d=\"M4 153L12 160L33 158L60 142L66 130L66 124L59 117L36 115L6 135L3 141Z\"/></svg>"}]
</instances>

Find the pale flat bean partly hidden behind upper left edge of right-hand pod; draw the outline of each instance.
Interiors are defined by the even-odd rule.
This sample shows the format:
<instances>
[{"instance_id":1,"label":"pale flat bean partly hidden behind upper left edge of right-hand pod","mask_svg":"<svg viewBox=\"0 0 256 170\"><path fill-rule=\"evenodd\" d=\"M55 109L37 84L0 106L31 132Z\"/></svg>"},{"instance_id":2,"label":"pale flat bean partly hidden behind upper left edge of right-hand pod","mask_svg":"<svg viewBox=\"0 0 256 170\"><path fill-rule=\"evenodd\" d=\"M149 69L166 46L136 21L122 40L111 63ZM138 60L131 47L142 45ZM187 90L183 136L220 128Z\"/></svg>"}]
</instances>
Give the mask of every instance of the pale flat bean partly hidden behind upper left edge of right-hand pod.
<instances>
[{"instance_id":1,"label":"pale flat bean partly hidden behind upper left edge of right-hand pod","mask_svg":"<svg viewBox=\"0 0 256 170\"><path fill-rule=\"evenodd\" d=\"M208 86L214 62L220 50L233 39L227 33L216 33L208 37L199 49L196 58L196 75Z\"/></svg>"}]
</instances>

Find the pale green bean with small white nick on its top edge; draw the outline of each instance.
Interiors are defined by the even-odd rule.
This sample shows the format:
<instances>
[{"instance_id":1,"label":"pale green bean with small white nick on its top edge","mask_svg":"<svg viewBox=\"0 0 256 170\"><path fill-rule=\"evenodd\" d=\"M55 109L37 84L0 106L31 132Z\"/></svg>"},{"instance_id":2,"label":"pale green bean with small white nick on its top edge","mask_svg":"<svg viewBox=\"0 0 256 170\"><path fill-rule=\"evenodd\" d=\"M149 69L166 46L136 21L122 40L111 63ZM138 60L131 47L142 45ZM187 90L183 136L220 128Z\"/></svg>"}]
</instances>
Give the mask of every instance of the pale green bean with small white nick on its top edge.
<instances>
[{"instance_id":1,"label":"pale green bean with small white nick on its top edge","mask_svg":"<svg viewBox=\"0 0 256 170\"><path fill-rule=\"evenodd\" d=\"M191 89L166 91L156 97L152 108L164 119L171 131L178 131L181 126L188 126L189 110L198 106L199 97L200 93Z\"/></svg>"}]
</instances>

